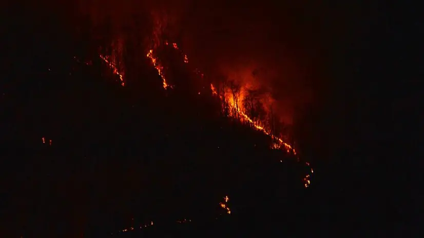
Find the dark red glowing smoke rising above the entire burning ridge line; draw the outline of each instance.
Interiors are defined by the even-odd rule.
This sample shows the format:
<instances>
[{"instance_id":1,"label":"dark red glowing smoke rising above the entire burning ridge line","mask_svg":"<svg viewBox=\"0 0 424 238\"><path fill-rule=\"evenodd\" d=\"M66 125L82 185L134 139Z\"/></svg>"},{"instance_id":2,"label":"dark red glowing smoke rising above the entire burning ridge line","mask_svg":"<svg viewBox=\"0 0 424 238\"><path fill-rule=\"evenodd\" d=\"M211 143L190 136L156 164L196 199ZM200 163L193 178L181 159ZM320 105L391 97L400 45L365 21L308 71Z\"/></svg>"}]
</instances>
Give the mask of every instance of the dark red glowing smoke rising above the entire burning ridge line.
<instances>
[{"instance_id":1,"label":"dark red glowing smoke rising above the entire burning ridge line","mask_svg":"<svg viewBox=\"0 0 424 238\"><path fill-rule=\"evenodd\" d=\"M313 102L319 51L316 6L242 1L81 1L80 12L115 28L145 18L211 77L263 91L285 123Z\"/></svg>"}]
</instances>

